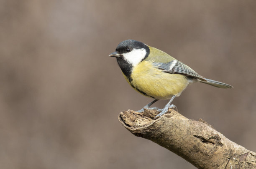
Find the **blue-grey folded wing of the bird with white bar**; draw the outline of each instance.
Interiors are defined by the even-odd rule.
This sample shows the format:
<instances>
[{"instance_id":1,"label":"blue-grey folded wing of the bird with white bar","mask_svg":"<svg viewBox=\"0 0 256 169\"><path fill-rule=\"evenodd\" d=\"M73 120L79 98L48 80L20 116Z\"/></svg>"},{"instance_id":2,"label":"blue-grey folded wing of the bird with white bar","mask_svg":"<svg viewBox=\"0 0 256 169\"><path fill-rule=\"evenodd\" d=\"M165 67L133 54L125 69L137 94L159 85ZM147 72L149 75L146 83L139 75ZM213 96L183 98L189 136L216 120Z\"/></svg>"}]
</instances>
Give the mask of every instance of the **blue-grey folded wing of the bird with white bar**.
<instances>
[{"instance_id":1,"label":"blue-grey folded wing of the bird with white bar","mask_svg":"<svg viewBox=\"0 0 256 169\"><path fill-rule=\"evenodd\" d=\"M198 78L202 81L206 81L204 77L200 76L197 72L178 60L172 60L168 63L153 62L153 65L158 69L163 70L166 73L182 74L190 77Z\"/></svg>"}]
</instances>

